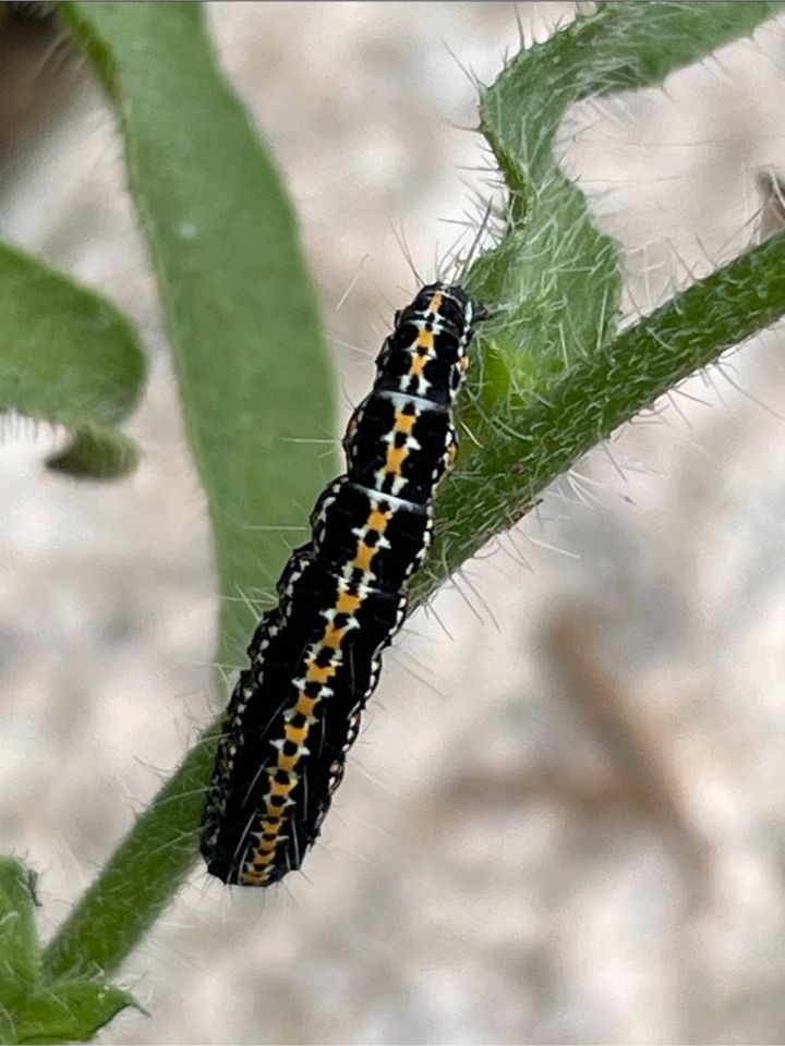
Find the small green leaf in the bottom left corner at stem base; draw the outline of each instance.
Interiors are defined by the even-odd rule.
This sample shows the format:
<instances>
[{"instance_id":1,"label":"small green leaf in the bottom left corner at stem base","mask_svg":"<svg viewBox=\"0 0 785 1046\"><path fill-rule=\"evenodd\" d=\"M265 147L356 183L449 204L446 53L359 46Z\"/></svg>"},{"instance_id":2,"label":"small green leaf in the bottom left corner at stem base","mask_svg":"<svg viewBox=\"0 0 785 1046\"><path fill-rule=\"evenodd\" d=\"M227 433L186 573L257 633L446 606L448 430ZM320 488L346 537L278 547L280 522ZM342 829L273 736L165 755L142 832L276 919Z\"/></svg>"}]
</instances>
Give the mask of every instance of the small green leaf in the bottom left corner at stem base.
<instances>
[{"instance_id":1,"label":"small green leaf in the bottom left corner at stem base","mask_svg":"<svg viewBox=\"0 0 785 1046\"><path fill-rule=\"evenodd\" d=\"M84 1043L120 1010L142 1010L100 980L46 981L35 904L32 873L0 858L0 1043Z\"/></svg>"}]
</instances>

